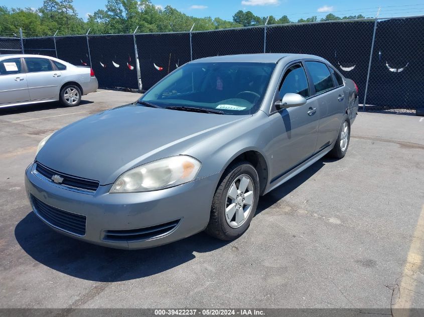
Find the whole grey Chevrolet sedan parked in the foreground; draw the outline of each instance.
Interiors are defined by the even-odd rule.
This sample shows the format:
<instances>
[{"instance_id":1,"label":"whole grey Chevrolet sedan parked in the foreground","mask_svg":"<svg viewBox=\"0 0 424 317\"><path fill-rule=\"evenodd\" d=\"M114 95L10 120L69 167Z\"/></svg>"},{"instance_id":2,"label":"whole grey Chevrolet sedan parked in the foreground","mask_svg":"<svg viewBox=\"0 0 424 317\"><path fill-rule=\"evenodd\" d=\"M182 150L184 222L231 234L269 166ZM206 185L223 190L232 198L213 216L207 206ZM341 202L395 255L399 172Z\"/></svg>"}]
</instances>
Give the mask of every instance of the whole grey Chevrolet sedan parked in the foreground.
<instances>
[{"instance_id":1,"label":"whole grey Chevrolet sedan parked in the foreground","mask_svg":"<svg viewBox=\"0 0 424 317\"><path fill-rule=\"evenodd\" d=\"M318 56L196 60L42 140L27 193L50 227L104 246L235 239L259 196L345 156L357 110L355 83Z\"/></svg>"}]
</instances>

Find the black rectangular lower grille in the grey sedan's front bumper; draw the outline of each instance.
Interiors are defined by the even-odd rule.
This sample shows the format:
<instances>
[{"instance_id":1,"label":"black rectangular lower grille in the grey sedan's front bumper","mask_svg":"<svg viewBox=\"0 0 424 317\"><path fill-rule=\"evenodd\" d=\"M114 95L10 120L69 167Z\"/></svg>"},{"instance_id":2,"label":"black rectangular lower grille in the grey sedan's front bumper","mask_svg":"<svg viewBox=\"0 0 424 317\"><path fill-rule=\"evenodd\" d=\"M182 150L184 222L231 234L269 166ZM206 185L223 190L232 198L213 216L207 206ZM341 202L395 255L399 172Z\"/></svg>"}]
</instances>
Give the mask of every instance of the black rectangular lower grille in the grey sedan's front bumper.
<instances>
[{"instance_id":1,"label":"black rectangular lower grille in the grey sedan's front bumper","mask_svg":"<svg viewBox=\"0 0 424 317\"><path fill-rule=\"evenodd\" d=\"M34 212L48 224L76 235L85 235L86 217L49 206L31 195Z\"/></svg>"}]
</instances>

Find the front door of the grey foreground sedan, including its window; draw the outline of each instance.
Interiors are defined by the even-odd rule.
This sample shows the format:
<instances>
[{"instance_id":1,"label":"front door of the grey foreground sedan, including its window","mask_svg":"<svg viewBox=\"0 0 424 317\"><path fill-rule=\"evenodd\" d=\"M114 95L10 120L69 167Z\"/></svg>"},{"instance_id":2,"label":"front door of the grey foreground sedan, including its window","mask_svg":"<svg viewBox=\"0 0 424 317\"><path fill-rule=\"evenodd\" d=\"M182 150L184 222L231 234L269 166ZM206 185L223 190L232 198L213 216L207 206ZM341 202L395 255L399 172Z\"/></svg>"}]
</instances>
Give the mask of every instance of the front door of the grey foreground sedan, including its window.
<instances>
[{"instance_id":1,"label":"front door of the grey foreground sedan, including its window","mask_svg":"<svg viewBox=\"0 0 424 317\"><path fill-rule=\"evenodd\" d=\"M286 93L307 98L303 106L282 109L270 115L273 134L271 141L271 182L290 172L314 154L319 117L317 104L310 96L305 69L301 63L286 71L279 85L279 100Z\"/></svg>"}]
</instances>

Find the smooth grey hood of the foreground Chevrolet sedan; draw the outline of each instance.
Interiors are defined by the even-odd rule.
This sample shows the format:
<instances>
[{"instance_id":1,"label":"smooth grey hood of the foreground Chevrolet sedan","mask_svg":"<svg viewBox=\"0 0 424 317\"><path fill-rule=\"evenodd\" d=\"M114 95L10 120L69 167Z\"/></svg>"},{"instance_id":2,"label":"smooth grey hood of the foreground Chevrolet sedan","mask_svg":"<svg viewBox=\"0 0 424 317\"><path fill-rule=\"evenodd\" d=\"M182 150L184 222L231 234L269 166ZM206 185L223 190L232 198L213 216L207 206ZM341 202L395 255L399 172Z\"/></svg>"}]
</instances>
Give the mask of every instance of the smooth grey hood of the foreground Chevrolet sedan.
<instances>
[{"instance_id":1,"label":"smooth grey hood of the foreground Chevrolet sedan","mask_svg":"<svg viewBox=\"0 0 424 317\"><path fill-rule=\"evenodd\" d=\"M130 168L179 155L205 135L247 117L130 104L57 131L36 161L60 173L111 184Z\"/></svg>"}]
</instances>

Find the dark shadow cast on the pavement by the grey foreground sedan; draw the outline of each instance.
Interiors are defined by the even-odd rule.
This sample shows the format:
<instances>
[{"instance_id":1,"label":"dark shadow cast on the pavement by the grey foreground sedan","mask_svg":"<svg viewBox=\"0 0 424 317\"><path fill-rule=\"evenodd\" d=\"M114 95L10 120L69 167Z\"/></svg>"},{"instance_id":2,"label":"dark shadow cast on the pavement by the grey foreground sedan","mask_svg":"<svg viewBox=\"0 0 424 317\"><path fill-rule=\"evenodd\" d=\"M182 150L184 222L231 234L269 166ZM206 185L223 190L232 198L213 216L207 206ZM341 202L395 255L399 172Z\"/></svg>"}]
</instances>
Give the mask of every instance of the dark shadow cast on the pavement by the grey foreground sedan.
<instances>
[{"instance_id":1,"label":"dark shadow cast on the pavement by the grey foreground sedan","mask_svg":"<svg viewBox=\"0 0 424 317\"><path fill-rule=\"evenodd\" d=\"M325 164L320 160L287 183L260 197L256 214L262 212L312 177ZM329 161L330 162L330 161ZM186 239L141 250L118 250L69 238L50 230L30 212L15 228L21 247L36 261L78 278L113 282L146 277L179 266L230 241L220 241L201 232Z\"/></svg>"}]
</instances>

